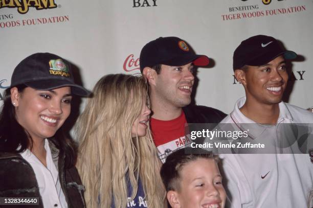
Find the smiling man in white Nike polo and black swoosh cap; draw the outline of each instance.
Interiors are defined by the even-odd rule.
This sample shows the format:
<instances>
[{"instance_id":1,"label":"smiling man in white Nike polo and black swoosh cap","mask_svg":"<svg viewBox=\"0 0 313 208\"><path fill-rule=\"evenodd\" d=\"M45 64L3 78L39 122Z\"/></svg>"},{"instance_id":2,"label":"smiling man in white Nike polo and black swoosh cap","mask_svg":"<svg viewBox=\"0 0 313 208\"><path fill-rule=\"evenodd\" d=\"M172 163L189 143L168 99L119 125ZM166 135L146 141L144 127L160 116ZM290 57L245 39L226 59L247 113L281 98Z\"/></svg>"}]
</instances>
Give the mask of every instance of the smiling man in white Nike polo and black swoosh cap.
<instances>
[{"instance_id":1,"label":"smiling man in white Nike polo and black swoosh cap","mask_svg":"<svg viewBox=\"0 0 313 208\"><path fill-rule=\"evenodd\" d=\"M313 185L309 148L303 154L294 154L292 148L303 145L294 142L280 146L279 150L289 151L287 154L276 151L277 144L292 137L280 131L282 127L288 129L288 125L294 124L297 129L299 124L313 123L312 113L282 101L288 81L286 60L296 57L295 52L283 49L275 38L265 35L242 41L234 52L233 70L244 87L245 97L237 101L221 123L247 130L250 142L267 141L276 148L266 154L250 151L220 155L232 207L306 207Z\"/></svg>"}]
</instances>

